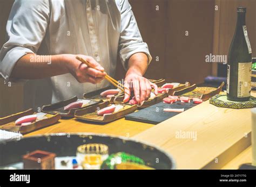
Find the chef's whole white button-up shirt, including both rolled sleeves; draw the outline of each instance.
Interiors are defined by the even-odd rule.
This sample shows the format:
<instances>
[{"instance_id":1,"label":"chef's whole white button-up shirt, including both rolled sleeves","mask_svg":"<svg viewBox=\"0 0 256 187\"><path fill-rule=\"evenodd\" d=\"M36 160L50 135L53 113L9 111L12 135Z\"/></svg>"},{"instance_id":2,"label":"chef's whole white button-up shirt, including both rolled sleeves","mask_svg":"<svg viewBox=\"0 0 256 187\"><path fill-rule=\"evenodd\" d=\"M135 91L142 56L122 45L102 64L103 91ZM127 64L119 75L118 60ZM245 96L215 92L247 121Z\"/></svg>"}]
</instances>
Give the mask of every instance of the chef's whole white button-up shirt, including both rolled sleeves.
<instances>
[{"instance_id":1,"label":"chef's whole white button-up shirt, including both rolled sleeves","mask_svg":"<svg viewBox=\"0 0 256 187\"><path fill-rule=\"evenodd\" d=\"M6 25L0 73L8 79L26 53L84 54L114 76L117 55L124 68L134 53L150 56L127 0L16 0ZM19 81L19 80L18 80ZM78 83L71 74L24 83L24 108L39 109L109 85Z\"/></svg>"}]
</instances>

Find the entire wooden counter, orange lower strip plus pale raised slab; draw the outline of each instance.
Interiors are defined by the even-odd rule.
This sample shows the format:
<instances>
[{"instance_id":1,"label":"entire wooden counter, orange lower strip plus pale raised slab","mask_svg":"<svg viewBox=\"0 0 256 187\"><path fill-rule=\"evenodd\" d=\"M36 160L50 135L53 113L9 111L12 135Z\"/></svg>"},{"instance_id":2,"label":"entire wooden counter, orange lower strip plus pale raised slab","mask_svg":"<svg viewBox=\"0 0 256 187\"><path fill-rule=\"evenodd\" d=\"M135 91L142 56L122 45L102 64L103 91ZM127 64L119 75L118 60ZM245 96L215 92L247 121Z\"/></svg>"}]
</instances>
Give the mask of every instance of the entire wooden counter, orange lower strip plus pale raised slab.
<instances>
[{"instance_id":1,"label":"entire wooden counter, orange lower strip plus pale raised slab","mask_svg":"<svg viewBox=\"0 0 256 187\"><path fill-rule=\"evenodd\" d=\"M255 92L252 95L255 96ZM124 118L106 125L69 119L25 136L60 132L120 135L163 148L173 155L178 169L227 169L233 167L230 162L235 162L235 157L251 145L250 110L220 108L206 101L158 125ZM184 133L187 136L183 136ZM247 154L250 152L248 149Z\"/></svg>"}]
</instances>

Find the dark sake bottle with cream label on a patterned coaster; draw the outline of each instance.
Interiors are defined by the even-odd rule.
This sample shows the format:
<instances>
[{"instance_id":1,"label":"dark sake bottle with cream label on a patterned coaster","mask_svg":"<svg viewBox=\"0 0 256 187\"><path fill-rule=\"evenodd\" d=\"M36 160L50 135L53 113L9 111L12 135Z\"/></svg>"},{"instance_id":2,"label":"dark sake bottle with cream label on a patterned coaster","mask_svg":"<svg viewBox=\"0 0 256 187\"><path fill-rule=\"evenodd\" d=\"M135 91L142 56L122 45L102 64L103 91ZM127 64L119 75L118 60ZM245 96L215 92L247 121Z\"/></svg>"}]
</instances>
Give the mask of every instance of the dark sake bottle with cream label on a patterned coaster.
<instances>
[{"instance_id":1,"label":"dark sake bottle with cream label on a patterned coaster","mask_svg":"<svg viewBox=\"0 0 256 187\"><path fill-rule=\"evenodd\" d=\"M252 49L245 25L246 8L237 8L237 26L228 52L227 99L246 101L251 96Z\"/></svg>"}]
</instances>

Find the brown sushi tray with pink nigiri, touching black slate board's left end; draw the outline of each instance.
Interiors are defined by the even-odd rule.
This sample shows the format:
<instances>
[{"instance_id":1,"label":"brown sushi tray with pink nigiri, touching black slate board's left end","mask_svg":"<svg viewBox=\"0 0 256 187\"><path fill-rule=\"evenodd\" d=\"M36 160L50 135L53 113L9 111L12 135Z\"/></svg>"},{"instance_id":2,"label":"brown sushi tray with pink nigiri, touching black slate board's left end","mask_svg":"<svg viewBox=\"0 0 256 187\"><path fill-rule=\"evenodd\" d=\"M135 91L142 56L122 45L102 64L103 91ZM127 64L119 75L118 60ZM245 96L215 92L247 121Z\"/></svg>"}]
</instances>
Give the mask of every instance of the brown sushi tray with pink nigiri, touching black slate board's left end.
<instances>
[{"instance_id":1,"label":"brown sushi tray with pink nigiri, touching black slate board's left end","mask_svg":"<svg viewBox=\"0 0 256 187\"><path fill-rule=\"evenodd\" d=\"M109 101L100 103L86 109L76 110L75 118L95 123L109 123L123 118L137 110L136 105L129 104L110 104Z\"/></svg>"}]
</instances>

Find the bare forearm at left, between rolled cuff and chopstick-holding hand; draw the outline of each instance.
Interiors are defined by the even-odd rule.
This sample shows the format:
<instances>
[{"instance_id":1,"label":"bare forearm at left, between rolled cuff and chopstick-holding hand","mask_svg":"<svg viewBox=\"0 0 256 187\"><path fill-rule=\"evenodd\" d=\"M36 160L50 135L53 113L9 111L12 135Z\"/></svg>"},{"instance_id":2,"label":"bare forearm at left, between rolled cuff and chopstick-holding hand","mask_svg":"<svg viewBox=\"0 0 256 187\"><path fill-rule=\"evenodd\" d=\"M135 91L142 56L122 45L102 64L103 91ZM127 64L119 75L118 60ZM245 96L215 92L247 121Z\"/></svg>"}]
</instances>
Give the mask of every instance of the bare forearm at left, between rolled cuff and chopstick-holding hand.
<instances>
[{"instance_id":1,"label":"bare forearm at left, between rolled cuff and chopstick-holding hand","mask_svg":"<svg viewBox=\"0 0 256 187\"><path fill-rule=\"evenodd\" d=\"M62 55L26 54L15 64L11 78L38 79L69 73Z\"/></svg>"}]
</instances>

